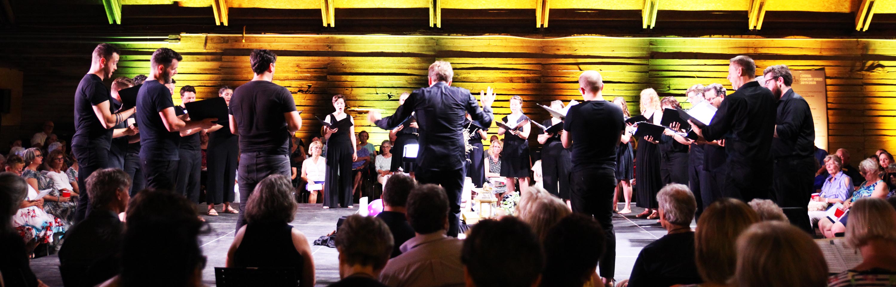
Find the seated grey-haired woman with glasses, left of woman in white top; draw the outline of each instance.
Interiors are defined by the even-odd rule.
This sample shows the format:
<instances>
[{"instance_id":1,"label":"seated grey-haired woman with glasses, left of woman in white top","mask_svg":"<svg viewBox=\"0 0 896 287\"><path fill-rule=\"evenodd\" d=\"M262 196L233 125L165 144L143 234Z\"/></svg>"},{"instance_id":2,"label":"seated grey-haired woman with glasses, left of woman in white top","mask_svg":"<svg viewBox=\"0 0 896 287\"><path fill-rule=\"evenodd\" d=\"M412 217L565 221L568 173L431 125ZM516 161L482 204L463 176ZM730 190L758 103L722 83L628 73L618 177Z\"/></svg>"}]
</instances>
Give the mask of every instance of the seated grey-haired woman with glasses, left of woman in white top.
<instances>
[{"instance_id":1,"label":"seated grey-haired woman with glasses, left of woman in white top","mask_svg":"<svg viewBox=\"0 0 896 287\"><path fill-rule=\"evenodd\" d=\"M68 229L72 224L74 209L78 207L78 202L72 200L72 197L65 197L61 191L56 190L53 180L38 171L38 167L43 164L44 160L42 153L38 148L25 150L25 156L22 156L22 159L25 160L22 177L32 189L38 190L38 192L50 190L50 193L44 196L44 211L62 220L65 229Z\"/></svg>"}]
</instances>

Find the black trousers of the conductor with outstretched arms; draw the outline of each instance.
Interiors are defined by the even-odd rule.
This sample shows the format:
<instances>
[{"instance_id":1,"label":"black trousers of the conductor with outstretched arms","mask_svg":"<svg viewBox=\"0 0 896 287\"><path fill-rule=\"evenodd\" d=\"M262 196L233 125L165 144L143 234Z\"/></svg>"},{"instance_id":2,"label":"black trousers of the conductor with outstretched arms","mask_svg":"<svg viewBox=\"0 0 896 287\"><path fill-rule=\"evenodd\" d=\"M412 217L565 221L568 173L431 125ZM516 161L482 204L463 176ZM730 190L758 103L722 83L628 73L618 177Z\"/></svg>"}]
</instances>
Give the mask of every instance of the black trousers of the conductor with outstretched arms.
<instances>
[{"instance_id":1,"label":"black trousers of the conductor with outstretched arms","mask_svg":"<svg viewBox=\"0 0 896 287\"><path fill-rule=\"evenodd\" d=\"M448 205L451 212L448 213L448 236L457 237L461 232L461 193L463 191L463 168L452 171L436 171L418 166L414 175L420 184L441 185L448 196Z\"/></svg>"}]
</instances>

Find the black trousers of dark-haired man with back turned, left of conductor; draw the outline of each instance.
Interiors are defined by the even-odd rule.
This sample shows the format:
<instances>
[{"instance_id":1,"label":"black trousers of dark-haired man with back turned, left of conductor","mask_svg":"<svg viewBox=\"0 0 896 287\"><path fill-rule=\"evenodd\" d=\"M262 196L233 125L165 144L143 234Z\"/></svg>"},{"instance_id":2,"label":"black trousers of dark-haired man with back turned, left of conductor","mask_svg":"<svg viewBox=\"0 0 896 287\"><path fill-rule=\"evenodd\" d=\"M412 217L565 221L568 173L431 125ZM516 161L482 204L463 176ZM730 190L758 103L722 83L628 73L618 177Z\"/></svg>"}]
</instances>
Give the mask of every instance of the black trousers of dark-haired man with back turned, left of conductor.
<instances>
[{"instance_id":1,"label":"black trousers of dark-haired man with back turned, left of conductor","mask_svg":"<svg viewBox=\"0 0 896 287\"><path fill-rule=\"evenodd\" d=\"M246 225L246 201L252 195L252 190L264 178L271 174L282 174L289 178L292 172L289 170L289 156L269 155L265 153L244 153L239 155L239 167L237 167L237 182L239 183L239 215L237 216L237 231Z\"/></svg>"}]
</instances>

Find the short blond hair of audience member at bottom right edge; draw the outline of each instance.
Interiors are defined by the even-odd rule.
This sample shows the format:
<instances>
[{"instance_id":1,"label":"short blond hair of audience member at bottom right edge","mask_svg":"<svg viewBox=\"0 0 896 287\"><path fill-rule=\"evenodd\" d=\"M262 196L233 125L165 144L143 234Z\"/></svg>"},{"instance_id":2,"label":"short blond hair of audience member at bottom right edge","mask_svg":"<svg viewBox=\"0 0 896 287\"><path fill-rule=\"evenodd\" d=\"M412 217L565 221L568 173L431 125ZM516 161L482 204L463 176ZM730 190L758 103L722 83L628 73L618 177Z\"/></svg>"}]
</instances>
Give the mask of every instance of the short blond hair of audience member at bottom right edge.
<instances>
[{"instance_id":1,"label":"short blond hair of audience member at bottom right edge","mask_svg":"<svg viewBox=\"0 0 896 287\"><path fill-rule=\"evenodd\" d=\"M860 248L873 239L896 241L896 209L881 198L861 198L849 209L846 241Z\"/></svg>"}]
</instances>

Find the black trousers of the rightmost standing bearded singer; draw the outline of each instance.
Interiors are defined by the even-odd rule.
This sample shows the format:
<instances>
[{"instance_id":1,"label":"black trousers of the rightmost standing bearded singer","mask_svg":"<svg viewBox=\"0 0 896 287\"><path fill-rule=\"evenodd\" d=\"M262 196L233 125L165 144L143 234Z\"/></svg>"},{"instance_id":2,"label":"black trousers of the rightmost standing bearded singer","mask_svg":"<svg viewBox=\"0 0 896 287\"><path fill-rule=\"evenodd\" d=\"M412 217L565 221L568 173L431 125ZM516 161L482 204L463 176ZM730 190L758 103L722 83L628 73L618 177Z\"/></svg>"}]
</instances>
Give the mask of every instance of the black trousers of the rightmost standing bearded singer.
<instances>
[{"instance_id":1,"label":"black trousers of the rightmost standing bearded singer","mask_svg":"<svg viewBox=\"0 0 896 287\"><path fill-rule=\"evenodd\" d=\"M807 203L814 192L814 167L813 156L790 156L774 160L774 194L771 199L780 207L791 207L785 209L790 223L806 232L812 232Z\"/></svg>"}]
</instances>

